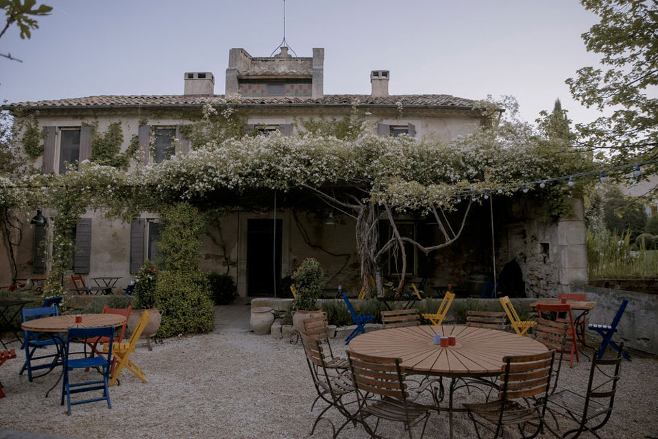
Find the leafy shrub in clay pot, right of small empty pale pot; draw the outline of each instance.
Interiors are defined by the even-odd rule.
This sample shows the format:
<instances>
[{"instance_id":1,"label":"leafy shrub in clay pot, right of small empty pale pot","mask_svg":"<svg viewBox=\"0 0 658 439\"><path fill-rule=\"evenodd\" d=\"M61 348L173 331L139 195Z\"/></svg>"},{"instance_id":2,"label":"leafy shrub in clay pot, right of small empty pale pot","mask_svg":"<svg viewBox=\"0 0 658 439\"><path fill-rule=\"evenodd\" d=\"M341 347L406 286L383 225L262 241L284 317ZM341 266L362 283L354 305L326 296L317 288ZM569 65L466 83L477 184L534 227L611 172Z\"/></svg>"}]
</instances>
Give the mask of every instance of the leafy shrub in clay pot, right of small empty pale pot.
<instances>
[{"instance_id":1,"label":"leafy shrub in clay pot, right of small empty pale pot","mask_svg":"<svg viewBox=\"0 0 658 439\"><path fill-rule=\"evenodd\" d=\"M297 292L297 298L293 301L293 328L304 331L304 319L321 315L317 310L317 299L320 297L324 286L324 271L314 258L306 258L297 267L291 279Z\"/></svg>"}]
</instances>

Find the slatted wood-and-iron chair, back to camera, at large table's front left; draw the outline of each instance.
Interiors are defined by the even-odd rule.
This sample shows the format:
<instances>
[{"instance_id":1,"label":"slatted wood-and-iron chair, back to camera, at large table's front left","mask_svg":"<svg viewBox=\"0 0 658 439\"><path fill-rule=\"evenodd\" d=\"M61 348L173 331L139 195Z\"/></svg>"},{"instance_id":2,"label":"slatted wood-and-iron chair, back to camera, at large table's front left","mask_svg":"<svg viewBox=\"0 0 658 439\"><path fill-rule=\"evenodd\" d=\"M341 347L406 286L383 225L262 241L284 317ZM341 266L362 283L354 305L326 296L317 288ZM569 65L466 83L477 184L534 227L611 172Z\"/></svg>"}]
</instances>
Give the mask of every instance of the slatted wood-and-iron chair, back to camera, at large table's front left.
<instances>
[{"instance_id":1,"label":"slatted wood-and-iron chair, back to camera, at large table's front left","mask_svg":"<svg viewBox=\"0 0 658 439\"><path fill-rule=\"evenodd\" d=\"M373 438L379 437L376 433L379 420L387 419L403 423L409 439L412 439L411 427L424 421L420 434L422 438L430 412L437 407L415 403L409 398L410 392L400 369L400 359L380 358L348 351L348 360L356 388L358 420L367 433ZM380 398L369 399L368 394ZM366 422L369 416L378 418L374 429Z\"/></svg>"}]
</instances>

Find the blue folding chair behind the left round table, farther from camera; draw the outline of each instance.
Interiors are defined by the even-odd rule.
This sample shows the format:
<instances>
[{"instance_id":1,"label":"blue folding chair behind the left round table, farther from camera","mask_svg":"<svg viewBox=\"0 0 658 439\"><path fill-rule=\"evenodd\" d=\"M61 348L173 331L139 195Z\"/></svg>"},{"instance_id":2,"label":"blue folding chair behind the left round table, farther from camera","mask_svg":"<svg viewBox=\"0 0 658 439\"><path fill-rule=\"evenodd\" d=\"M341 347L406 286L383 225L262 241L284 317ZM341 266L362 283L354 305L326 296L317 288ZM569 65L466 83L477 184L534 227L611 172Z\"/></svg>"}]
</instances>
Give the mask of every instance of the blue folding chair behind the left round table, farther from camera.
<instances>
[{"instance_id":1,"label":"blue folding chair behind the left round table, farther from camera","mask_svg":"<svg viewBox=\"0 0 658 439\"><path fill-rule=\"evenodd\" d=\"M58 308L56 306L49 306L44 308L23 308L21 310L23 316L23 322L33 320L34 318L41 317L53 317L58 316ZM35 357L34 352L37 349L45 349L49 346L56 347L56 353L48 353L47 355L40 355ZM48 372L52 371L53 368L61 364L58 362L58 359L61 357L61 347L62 347L62 338L60 336L50 336L42 332L32 332L23 329L23 349L25 349L25 363L21 367L19 375L22 375L25 369L27 369L27 381L32 382L32 378L36 378L32 375L33 371L39 371L40 369L48 368ZM53 360L45 364L32 364L34 360L42 360L44 358L52 358ZM46 373L42 374L45 375ZM38 375L38 377L42 376Z\"/></svg>"}]
</instances>

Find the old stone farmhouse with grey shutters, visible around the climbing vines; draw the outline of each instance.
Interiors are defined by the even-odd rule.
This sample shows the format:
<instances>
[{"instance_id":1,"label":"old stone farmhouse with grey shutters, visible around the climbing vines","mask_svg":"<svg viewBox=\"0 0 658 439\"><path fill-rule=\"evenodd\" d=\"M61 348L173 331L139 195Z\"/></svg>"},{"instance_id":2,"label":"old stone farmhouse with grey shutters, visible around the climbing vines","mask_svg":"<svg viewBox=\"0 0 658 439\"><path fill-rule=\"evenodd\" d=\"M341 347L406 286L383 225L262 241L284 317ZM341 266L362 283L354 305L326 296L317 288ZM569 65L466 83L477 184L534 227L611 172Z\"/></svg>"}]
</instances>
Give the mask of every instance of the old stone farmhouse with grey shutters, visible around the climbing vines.
<instances>
[{"instance_id":1,"label":"old stone farmhouse with grey shutters, visible around the climbing vines","mask_svg":"<svg viewBox=\"0 0 658 439\"><path fill-rule=\"evenodd\" d=\"M221 110L230 106L247 114L249 129L263 135L280 130L293 134L295 123L304 118L341 118L358 108L380 136L406 134L447 142L486 123L474 110L475 101L450 95L389 95L390 73L370 72L367 95L325 95L324 49L312 57L293 57L282 47L273 57L252 57L244 49L231 49L223 95L215 94L215 76L210 72L184 73L182 95L90 96L56 101L20 102L5 105L10 111L38 112L44 131L43 155L34 165L44 173L65 172L66 163L90 158L90 125L103 132L110 123L121 123L123 151L131 138L138 139L143 160L162 162L170 154L190 149L182 126L189 123L185 112L200 112L210 101ZM175 116L173 116L175 115ZM152 138L155 136L155 139ZM150 148L154 148L150 153ZM154 145L154 147L152 146ZM241 297L282 294L280 278L290 275L307 257L317 258L328 274L328 288L356 292L359 263L352 218L318 201L308 211L285 207L285 195L267 195L269 204L258 209L232 210L210 225L204 237L201 266L206 271L229 273ZM543 296L587 283L585 225L581 201L572 201L572 217L546 224L539 220L533 203L523 197L495 206L493 244L488 203L478 205L467 221L460 240L430 255L410 251L408 268L413 281L428 279L428 288L454 288L478 292L493 273L493 255L500 281L511 295ZM324 207L322 207L324 206ZM43 212L48 218L47 210ZM424 218L400 217L400 230L419 239L438 236L437 227ZM37 249L47 236L47 227L30 225L23 218L23 240L14 249L18 277L47 273L47 262ZM382 233L386 234L385 228ZM120 276L117 285L129 283L147 258L157 254L160 227L156 214L143 212L132 223L106 218L88 210L76 229L73 272L88 277ZM0 284L11 282L6 242L0 251ZM385 276L398 270L395 258ZM277 290L278 288L278 290Z\"/></svg>"}]
</instances>

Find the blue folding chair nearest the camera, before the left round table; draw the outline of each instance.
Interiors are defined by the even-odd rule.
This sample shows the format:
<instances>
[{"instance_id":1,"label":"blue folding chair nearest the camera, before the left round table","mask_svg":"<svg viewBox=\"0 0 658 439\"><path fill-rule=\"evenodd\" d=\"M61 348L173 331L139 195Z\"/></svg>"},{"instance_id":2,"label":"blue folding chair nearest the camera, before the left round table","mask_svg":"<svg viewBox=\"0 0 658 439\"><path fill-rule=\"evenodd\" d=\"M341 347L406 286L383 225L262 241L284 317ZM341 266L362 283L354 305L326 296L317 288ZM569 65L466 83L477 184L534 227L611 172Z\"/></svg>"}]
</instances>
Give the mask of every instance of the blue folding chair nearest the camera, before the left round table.
<instances>
[{"instance_id":1,"label":"blue folding chair nearest the camera, before the left round table","mask_svg":"<svg viewBox=\"0 0 658 439\"><path fill-rule=\"evenodd\" d=\"M71 359L71 340L74 338L99 338L106 337L108 341L108 353L105 357L99 355L97 357L75 358ZM110 389L108 386L110 377L110 366L112 365L112 340L114 339L114 327L103 326L97 328L69 328L66 336L66 351L64 353L64 381L62 381L62 401L64 405L64 395L66 395L66 412L71 414L71 405L92 403L95 401L108 401L108 408L112 408L110 404ZM71 384L69 372L73 369L86 369L90 367L102 368L102 378L93 381L84 381L82 383ZM88 376L88 375L87 375ZM97 376L97 375L95 375ZM80 392L93 392L95 390L103 390L103 396L91 399L84 399L82 401L71 402L72 393Z\"/></svg>"}]
</instances>

